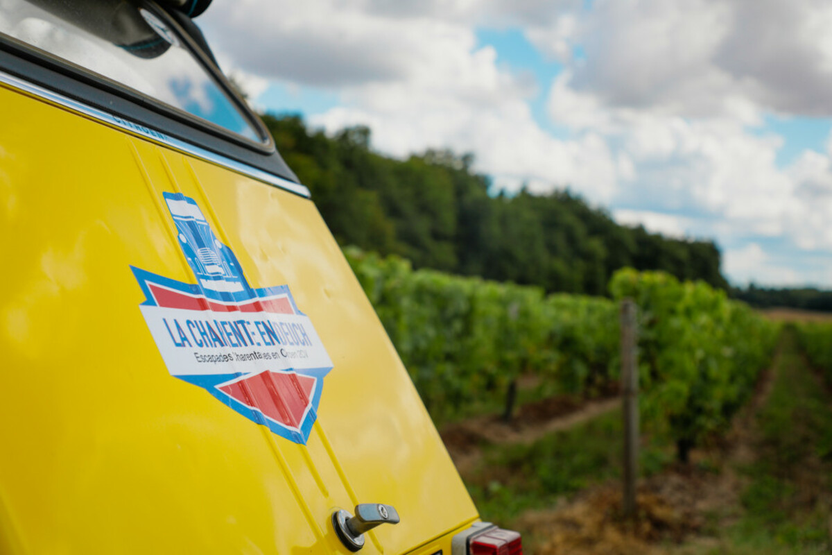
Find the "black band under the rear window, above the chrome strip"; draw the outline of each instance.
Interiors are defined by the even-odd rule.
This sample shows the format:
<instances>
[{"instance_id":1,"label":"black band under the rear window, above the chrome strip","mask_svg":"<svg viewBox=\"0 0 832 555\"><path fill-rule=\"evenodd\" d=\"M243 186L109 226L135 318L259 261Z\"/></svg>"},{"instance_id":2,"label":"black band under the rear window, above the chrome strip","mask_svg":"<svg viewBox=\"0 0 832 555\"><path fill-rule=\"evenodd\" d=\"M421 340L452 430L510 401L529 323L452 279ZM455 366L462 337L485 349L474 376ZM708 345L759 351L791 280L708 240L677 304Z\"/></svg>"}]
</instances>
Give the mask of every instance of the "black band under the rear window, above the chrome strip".
<instances>
[{"instance_id":1,"label":"black band under the rear window, above the chrome strip","mask_svg":"<svg viewBox=\"0 0 832 555\"><path fill-rule=\"evenodd\" d=\"M119 87L117 83L95 74L82 72L57 58L43 56L40 52L22 46L5 35L0 35L0 70L99 110L125 117L181 141L201 146L207 151L268 171L289 181L300 182L295 172L290 170L280 153L276 151L272 141L255 146L253 141L236 140L230 132L217 132L210 126L194 121L196 118L183 117L179 111L166 108L159 102L143 97L126 87ZM261 129L265 128L259 119L257 123Z\"/></svg>"}]
</instances>

